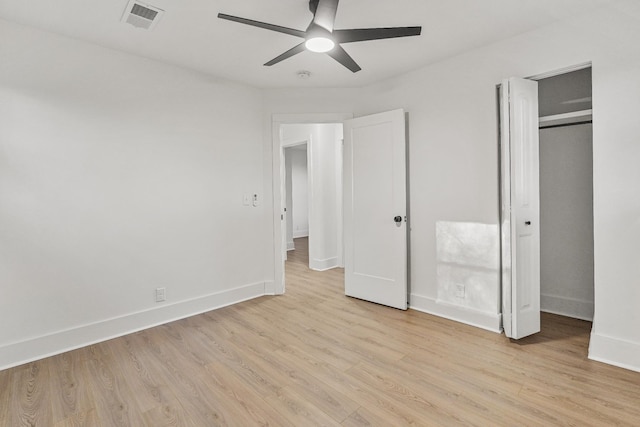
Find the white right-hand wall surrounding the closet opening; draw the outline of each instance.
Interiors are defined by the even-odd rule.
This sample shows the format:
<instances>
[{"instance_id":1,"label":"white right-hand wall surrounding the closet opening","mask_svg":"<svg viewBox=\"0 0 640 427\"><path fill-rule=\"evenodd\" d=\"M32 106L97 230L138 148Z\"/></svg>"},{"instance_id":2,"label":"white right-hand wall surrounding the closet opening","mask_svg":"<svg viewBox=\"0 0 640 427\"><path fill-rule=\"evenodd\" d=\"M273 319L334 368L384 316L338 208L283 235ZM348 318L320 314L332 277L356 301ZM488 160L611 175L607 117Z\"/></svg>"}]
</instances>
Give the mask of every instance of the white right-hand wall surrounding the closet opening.
<instances>
[{"instance_id":1,"label":"white right-hand wall surrounding the closet opening","mask_svg":"<svg viewBox=\"0 0 640 427\"><path fill-rule=\"evenodd\" d=\"M413 308L499 327L497 278L484 284L491 308L437 301L436 225L498 224L496 84L592 61L595 319L589 355L640 370L639 39L640 3L621 1L366 89L356 115L409 113Z\"/></svg>"}]
</instances>

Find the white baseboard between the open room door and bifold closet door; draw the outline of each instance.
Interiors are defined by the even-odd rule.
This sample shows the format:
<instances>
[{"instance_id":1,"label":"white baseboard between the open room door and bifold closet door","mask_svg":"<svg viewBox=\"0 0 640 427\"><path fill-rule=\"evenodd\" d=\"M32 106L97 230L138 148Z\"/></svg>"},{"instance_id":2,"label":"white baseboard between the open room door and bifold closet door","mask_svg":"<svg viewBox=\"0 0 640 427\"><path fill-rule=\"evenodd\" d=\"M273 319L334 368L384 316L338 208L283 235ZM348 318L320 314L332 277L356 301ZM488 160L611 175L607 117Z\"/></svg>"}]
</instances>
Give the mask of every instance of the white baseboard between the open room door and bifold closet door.
<instances>
[{"instance_id":1,"label":"white baseboard between the open room door and bifold closet door","mask_svg":"<svg viewBox=\"0 0 640 427\"><path fill-rule=\"evenodd\" d=\"M411 294L409 308L422 311L445 319L465 323L491 332L502 332L502 315L472 310L466 307L458 307L444 302L438 302L435 298L423 295Z\"/></svg>"}]
</instances>

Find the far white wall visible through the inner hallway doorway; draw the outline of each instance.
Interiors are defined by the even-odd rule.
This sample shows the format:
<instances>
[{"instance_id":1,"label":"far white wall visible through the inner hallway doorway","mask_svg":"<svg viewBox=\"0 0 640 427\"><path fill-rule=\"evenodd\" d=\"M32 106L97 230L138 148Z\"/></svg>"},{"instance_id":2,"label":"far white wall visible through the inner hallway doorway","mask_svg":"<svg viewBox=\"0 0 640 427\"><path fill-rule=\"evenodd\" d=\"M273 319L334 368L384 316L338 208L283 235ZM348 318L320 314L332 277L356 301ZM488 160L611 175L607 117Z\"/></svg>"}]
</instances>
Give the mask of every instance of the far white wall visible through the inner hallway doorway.
<instances>
[{"instance_id":1,"label":"far white wall visible through the inner hallway doorway","mask_svg":"<svg viewBox=\"0 0 640 427\"><path fill-rule=\"evenodd\" d=\"M291 178L293 199L293 238L309 235L309 183L307 149L294 148L291 153Z\"/></svg>"}]
</instances>

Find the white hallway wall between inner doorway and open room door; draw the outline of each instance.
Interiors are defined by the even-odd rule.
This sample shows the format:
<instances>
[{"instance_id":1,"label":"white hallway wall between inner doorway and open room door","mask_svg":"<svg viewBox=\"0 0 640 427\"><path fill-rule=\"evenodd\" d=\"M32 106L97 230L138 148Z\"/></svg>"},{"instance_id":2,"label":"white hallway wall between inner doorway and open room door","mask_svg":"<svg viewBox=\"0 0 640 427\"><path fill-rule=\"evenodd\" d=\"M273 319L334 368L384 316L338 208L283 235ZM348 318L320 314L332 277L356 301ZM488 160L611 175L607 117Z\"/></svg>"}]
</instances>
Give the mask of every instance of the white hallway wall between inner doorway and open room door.
<instances>
[{"instance_id":1,"label":"white hallway wall between inner doorway and open room door","mask_svg":"<svg viewBox=\"0 0 640 427\"><path fill-rule=\"evenodd\" d=\"M308 140L308 222L309 268L326 270L340 265L339 224L342 193L341 147L342 124L288 124L282 126L282 141ZM294 196L295 200L295 196ZM294 206L294 212L296 207ZM294 230L295 233L295 230Z\"/></svg>"}]
</instances>

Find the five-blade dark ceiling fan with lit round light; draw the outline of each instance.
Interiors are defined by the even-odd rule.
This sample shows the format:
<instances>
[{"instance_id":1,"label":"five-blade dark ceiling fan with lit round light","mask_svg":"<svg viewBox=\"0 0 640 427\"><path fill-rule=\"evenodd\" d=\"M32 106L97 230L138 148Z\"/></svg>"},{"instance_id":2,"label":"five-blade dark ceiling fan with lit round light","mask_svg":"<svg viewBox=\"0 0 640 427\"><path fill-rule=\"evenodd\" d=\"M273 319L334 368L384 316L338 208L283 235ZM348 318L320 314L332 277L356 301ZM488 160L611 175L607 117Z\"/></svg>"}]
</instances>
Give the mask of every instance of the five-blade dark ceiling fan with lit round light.
<instances>
[{"instance_id":1,"label":"five-blade dark ceiling fan with lit round light","mask_svg":"<svg viewBox=\"0 0 640 427\"><path fill-rule=\"evenodd\" d=\"M422 27L357 28L350 30L336 30L333 28L333 25L336 20L338 1L339 0L309 0L309 10L313 13L313 19L305 31L226 15L224 13L219 13L218 18L289 34L305 40L264 64L266 66L277 64L278 62L290 58L293 55L297 55L307 49L312 52L326 53L354 73L360 71L361 68L342 48L342 46L340 46L342 43L419 36L422 31Z\"/></svg>"}]
</instances>

